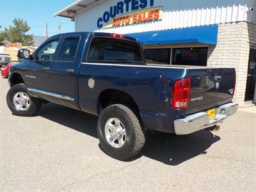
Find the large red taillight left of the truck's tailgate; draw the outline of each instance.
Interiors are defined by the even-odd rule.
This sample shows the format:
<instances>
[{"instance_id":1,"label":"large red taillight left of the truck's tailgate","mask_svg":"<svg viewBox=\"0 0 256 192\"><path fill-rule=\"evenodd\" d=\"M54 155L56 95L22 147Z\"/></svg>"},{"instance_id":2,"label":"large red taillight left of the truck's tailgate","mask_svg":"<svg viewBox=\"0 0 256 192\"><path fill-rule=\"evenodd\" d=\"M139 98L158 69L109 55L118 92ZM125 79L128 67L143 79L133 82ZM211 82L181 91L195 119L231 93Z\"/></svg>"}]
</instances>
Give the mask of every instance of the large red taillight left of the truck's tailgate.
<instances>
[{"instance_id":1,"label":"large red taillight left of the truck's tailgate","mask_svg":"<svg viewBox=\"0 0 256 192\"><path fill-rule=\"evenodd\" d=\"M190 90L190 78L180 79L173 87L172 108L187 109Z\"/></svg>"}]
</instances>

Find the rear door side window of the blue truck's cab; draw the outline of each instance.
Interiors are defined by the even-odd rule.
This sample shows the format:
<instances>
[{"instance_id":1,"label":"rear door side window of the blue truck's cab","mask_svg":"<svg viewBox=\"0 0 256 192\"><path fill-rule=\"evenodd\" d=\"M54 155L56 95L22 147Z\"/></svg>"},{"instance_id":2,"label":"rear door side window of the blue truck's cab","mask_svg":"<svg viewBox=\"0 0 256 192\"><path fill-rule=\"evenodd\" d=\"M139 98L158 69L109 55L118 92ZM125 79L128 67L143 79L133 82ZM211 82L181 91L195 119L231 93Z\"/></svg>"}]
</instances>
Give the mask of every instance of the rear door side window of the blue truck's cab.
<instances>
[{"instance_id":1,"label":"rear door side window of the blue truck's cab","mask_svg":"<svg viewBox=\"0 0 256 192\"><path fill-rule=\"evenodd\" d=\"M77 38L65 38L60 47L60 53L58 61L74 61L77 52L77 46L79 44L79 37Z\"/></svg>"}]
</instances>

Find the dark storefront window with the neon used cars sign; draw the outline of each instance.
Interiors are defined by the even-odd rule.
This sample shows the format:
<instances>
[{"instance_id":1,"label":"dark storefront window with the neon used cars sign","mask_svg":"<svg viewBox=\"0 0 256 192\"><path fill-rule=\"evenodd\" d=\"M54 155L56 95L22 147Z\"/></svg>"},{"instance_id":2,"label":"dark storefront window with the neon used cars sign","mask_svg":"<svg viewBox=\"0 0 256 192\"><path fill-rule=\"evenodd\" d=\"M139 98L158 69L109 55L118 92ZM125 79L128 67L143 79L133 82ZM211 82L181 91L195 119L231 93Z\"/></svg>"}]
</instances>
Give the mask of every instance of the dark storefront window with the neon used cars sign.
<instances>
[{"instance_id":1,"label":"dark storefront window with the neon used cars sign","mask_svg":"<svg viewBox=\"0 0 256 192\"><path fill-rule=\"evenodd\" d=\"M206 66L207 52L207 47L173 48L172 65Z\"/></svg>"}]
</instances>

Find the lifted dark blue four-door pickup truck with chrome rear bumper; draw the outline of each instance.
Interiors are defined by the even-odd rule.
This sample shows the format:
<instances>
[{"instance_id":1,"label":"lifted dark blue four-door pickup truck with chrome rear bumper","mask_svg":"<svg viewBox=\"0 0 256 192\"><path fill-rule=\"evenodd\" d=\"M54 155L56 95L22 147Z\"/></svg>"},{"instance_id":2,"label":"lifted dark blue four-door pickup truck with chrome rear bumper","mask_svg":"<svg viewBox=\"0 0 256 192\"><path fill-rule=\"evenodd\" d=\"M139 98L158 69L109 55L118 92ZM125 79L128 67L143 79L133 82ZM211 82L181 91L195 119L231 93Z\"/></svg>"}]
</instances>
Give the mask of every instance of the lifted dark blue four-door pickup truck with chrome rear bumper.
<instances>
[{"instance_id":1,"label":"lifted dark blue four-door pickup truck with chrome rear bumper","mask_svg":"<svg viewBox=\"0 0 256 192\"><path fill-rule=\"evenodd\" d=\"M116 159L136 156L148 130L211 130L237 111L234 68L147 64L129 36L65 33L18 56L6 97L13 115L36 115L45 102L97 115L100 145Z\"/></svg>"}]
</instances>

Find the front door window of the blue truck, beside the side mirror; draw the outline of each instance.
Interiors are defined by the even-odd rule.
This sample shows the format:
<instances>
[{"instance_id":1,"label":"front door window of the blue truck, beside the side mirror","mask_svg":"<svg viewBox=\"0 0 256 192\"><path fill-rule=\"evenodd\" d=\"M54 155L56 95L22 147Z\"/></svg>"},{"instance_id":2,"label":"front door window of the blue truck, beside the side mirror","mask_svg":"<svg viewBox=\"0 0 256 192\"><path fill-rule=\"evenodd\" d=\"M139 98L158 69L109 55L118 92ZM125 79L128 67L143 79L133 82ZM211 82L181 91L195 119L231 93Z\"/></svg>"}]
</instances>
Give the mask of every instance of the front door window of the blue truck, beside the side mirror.
<instances>
[{"instance_id":1,"label":"front door window of the blue truck, beside the side mirror","mask_svg":"<svg viewBox=\"0 0 256 192\"><path fill-rule=\"evenodd\" d=\"M43 45L43 47L41 47L36 54L36 60L37 61L54 60L54 56L56 54L56 48L59 42L60 40L52 40L51 42L48 42L47 44Z\"/></svg>"}]
</instances>

